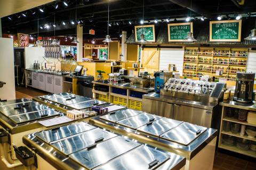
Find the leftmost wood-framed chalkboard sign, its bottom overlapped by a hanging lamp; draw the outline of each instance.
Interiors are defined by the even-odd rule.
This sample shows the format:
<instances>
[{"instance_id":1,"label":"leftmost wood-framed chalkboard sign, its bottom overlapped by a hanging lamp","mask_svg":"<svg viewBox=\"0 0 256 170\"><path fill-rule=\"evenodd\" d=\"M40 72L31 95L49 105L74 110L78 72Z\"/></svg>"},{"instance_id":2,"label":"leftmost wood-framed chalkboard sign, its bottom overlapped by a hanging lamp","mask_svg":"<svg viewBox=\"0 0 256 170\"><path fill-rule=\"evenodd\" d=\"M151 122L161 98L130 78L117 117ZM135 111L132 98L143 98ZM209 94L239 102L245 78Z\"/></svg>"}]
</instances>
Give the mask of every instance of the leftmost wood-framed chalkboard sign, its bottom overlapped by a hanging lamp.
<instances>
[{"instance_id":1,"label":"leftmost wood-framed chalkboard sign, its bottom overlapped by a hanging lamp","mask_svg":"<svg viewBox=\"0 0 256 170\"><path fill-rule=\"evenodd\" d=\"M155 42L155 25L135 26L135 41L140 41L140 35L144 34L148 42Z\"/></svg>"}]
</instances>

